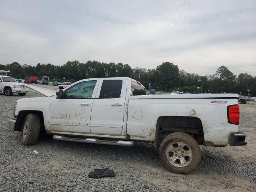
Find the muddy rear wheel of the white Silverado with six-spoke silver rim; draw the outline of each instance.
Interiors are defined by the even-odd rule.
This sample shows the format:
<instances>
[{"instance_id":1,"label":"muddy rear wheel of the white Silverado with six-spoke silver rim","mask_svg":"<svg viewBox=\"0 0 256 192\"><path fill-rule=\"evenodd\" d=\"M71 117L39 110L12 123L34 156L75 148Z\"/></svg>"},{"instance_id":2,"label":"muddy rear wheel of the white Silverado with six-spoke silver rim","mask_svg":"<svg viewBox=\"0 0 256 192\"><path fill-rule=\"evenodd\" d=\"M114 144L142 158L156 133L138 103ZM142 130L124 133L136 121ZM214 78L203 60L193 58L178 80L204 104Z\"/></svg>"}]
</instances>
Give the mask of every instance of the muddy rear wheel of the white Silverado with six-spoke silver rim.
<instances>
[{"instance_id":1,"label":"muddy rear wheel of the white Silverado with six-spoke silver rim","mask_svg":"<svg viewBox=\"0 0 256 192\"><path fill-rule=\"evenodd\" d=\"M177 142L181 144L180 146L185 144L183 149L179 151L175 149L175 145L179 146ZM175 150L174 153L168 152L170 148ZM166 136L160 144L159 154L164 166L171 172L178 174L192 172L198 167L201 160L201 151L197 141L189 134L182 132L175 132ZM192 154L192 158L187 156L190 154ZM171 163L168 158L175 160L175 162ZM181 160L184 161L183 164Z\"/></svg>"}]
</instances>

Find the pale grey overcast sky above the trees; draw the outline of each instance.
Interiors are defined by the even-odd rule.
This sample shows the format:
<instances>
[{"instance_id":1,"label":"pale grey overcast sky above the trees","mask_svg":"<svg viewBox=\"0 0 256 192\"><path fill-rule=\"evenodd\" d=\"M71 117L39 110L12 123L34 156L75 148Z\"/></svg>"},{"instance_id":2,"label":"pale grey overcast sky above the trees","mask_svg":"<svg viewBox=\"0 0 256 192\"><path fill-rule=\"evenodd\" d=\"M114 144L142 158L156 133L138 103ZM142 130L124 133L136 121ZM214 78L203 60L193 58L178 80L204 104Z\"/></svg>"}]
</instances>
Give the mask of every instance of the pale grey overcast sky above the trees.
<instances>
[{"instance_id":1,"label":"pale grey overcast sky above the trees","mask_svg":"<svg viewBox=\"0 0 256 192\"><path fill-rule=\"evenodd\" d=\"M0 0L0 64L68 60L256 75L256 0Z\"/></svg>"}]
</instances>

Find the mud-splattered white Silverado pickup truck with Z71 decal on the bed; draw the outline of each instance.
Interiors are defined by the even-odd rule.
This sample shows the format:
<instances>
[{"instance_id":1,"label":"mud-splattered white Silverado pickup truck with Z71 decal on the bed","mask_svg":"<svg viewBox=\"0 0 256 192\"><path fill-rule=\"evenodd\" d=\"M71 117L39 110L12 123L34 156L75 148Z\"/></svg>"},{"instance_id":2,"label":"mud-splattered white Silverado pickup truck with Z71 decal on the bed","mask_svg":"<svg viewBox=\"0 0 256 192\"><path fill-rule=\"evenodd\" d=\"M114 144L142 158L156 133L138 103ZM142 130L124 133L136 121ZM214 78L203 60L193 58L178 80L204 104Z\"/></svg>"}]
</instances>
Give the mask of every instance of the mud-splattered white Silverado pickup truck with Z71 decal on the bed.
<instances>
[{"instance_id":1,"label":"mud-splattered white Silverado pickup truck with Z71 decal on the bed","mask_svg":"<svg viewBox=\"0 0 256 192\"><path fill-rule=\"evenodd\" d=\"M197 168L199 145L246 145L246 135L238 132L237 94L146 95L131 78L94 78L45 95L15 104L9 128L22 132L22 144L35 144L42 129L56 140L154 142L164 166L175 173Z\"/></svg>"}]
</instances>

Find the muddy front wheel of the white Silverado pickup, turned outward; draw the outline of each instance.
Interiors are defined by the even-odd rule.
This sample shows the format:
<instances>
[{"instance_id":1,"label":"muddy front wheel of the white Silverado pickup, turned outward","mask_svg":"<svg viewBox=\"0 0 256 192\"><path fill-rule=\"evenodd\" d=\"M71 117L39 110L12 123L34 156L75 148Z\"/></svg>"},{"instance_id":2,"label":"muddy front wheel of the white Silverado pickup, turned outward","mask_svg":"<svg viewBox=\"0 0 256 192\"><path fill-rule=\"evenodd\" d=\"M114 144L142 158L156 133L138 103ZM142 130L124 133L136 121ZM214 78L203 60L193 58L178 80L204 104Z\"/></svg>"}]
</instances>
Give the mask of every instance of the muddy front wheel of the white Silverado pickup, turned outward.
<instances>
[{"instance_id":1,"label":"muddy front wheel of the white Silverado pickup, turned outward","mask_svg":"<svg viewBox=\"0 0 256 192\"><path fill-rule=\"evenodd\" d=\"M40 134L40 128L40 116L37 114L28 114L22 126L21 143L24 145L36 144Z\"/></svg>"}]
</instances>

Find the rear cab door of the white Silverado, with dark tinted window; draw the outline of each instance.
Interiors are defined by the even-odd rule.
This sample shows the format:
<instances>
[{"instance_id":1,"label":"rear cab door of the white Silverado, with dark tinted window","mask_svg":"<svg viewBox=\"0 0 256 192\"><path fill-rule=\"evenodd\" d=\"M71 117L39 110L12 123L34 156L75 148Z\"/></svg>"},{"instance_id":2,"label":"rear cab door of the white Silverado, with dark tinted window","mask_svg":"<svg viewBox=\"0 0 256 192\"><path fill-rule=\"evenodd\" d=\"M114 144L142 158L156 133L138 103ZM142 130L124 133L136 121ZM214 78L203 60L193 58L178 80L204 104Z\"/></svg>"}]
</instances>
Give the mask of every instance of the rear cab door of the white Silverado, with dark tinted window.
<instances>
[{"instance_id":1,"label":"rear cab door of the white Silverado, with dark tinted window","mask_svg":"<svg viewBox=\"0 0 256 192\"><path fill-rule=\"evenodd\" d=\"M92 134L120 135L124 123L126 79L101 80L92 105Z\"/></svg>"}]
</instances>

